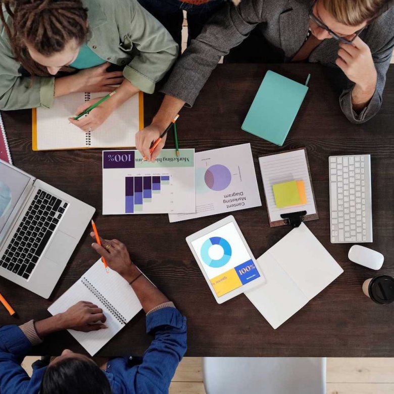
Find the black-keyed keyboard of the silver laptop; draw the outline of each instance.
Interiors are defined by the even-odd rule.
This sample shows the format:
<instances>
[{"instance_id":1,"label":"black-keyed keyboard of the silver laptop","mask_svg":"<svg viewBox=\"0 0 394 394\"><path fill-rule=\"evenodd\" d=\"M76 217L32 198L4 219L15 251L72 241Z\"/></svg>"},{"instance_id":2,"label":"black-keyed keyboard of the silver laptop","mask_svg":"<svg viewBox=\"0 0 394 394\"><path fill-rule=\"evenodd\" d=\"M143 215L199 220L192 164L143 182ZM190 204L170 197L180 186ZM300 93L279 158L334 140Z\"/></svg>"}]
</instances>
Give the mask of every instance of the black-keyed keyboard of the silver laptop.
<instances>
[{"instance_id":1,"label":"black-keyed keyboard of the silver laptop","mask_svg":"<svg viewBox=\"0 0 394 394\"><path fill-rule=\"evenodd\" d=\"M67 205L39 189L0 260L0 265L28 279Z\"/></svg>"}]
</instances>

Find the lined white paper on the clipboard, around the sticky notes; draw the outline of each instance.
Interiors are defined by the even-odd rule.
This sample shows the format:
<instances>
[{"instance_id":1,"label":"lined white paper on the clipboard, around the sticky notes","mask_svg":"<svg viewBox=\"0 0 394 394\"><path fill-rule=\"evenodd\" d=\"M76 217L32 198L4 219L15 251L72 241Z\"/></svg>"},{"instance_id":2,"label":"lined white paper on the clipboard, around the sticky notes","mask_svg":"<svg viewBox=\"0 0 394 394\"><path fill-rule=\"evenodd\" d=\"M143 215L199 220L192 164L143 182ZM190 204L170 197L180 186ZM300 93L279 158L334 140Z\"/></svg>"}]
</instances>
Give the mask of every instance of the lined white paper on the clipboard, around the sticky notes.
<instances>
[{"instance_id":1,"label":"lined white paper on the clipboard, around the sticky notes","mask_svg":"<svg viewBox=\"0 0 394 394\"><path fill-rule=\"evenodd\" d=\"M283 220L280 215L285 213L307 211L307 215L316 214L311 179L309 177L307 159L303 149L263 156L259 158L259 163L261 176L263 178L264 192L266 195L267 210L270 217L270 222ZM277 208L272 186L276 183L293 180L304 181L305 193L307 195L307 204L288 208Z\"/></svg>"}]
</instances>

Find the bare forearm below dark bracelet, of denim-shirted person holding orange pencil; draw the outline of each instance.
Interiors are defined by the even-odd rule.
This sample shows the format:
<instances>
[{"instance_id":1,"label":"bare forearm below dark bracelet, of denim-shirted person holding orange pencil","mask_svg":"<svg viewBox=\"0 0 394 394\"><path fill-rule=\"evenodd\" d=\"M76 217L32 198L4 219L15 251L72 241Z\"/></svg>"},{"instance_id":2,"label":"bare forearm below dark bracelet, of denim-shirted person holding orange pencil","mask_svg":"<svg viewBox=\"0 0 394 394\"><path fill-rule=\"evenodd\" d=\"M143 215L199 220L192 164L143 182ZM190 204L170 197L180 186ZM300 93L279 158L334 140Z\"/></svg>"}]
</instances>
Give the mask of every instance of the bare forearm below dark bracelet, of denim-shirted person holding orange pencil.
<instances>
[{"instance_id":1,"label":"bare forearm below dark bracelet, of denim-shirted person holding orange pencil","mask_svg":"<svg viewBox=\"0 0 394 394\"><path fill-rule=\"evenodd\" d=\"M134 264L131 264L127 274L123 275L123 277L129 283L132 282L131 287L135 291L145 313L169 301L156 286L146 279L143 274L141 275L141 271Z\"/></svg>"}]
</instances>

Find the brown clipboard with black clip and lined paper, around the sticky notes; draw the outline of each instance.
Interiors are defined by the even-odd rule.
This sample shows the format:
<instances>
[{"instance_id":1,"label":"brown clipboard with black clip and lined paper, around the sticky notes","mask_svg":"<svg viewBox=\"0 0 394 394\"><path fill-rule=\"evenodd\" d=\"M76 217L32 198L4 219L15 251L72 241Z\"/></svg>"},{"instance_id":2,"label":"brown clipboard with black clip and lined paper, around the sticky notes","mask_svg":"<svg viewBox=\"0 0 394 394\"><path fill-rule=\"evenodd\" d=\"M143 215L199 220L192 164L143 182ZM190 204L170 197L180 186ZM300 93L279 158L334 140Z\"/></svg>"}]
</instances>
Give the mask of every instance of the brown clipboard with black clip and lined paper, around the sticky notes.
<instances>
[{"instance_id":1,"label":"brown clipboard with black clip and lined paper, around the sticky notes","mask_svg":"<svg viewBox=\"0 0 394 394\"><path fill-rule=\"evenodd\" d=\"M306 147L260 156L259 164L270 227L298 227L302 222L319 219ZM277 208L272 185L292 180L304 180L307 204Z\"/></svg>"}]
</instances>

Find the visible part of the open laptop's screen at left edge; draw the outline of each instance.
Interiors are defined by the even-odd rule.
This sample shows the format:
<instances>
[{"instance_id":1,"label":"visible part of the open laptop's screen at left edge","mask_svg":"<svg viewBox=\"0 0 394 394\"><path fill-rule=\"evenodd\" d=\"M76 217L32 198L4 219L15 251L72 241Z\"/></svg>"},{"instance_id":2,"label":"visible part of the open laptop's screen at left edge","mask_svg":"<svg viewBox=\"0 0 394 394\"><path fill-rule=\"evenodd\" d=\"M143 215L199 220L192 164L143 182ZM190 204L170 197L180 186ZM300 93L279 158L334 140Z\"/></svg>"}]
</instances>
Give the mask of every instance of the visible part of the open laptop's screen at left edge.
<instances>
[{"instance_id":1,"label":"visible part of the open laptop's screen at left edge","mask_svg":"<svg viewBox=\"0 0 394 394\"><path fill-rule=\"evenodd\" d=\"M0 163L0 232L31 178Z\"/></svg>"}]
</instances>

